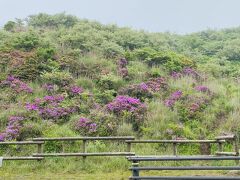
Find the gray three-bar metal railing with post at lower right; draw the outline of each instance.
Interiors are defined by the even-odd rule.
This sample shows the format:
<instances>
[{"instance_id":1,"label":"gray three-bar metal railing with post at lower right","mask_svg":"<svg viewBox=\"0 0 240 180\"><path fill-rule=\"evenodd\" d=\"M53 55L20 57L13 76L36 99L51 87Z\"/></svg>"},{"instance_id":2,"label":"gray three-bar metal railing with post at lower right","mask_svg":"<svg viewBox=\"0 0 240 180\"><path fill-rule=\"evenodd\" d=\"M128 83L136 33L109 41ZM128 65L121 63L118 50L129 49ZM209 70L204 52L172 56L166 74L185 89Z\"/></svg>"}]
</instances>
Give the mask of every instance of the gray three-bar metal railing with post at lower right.
<instances>
[{"instance_id":1,"label":"gray three-bar metal railing with post at lower right","mask_svg":"<svg viewBox=\"0 0 240 180\"><path fill-rule=\"evenodd\" d=\"M199 161L199 160L240 160L240 156L135 156L127 157L132 161L132 176L129 179L240 179L240 177L227 177L227 176L140 176L140 171L150 170L240 170L240 166L145 166L139 167L140 161Z\"/></svg>"}]
</instances>

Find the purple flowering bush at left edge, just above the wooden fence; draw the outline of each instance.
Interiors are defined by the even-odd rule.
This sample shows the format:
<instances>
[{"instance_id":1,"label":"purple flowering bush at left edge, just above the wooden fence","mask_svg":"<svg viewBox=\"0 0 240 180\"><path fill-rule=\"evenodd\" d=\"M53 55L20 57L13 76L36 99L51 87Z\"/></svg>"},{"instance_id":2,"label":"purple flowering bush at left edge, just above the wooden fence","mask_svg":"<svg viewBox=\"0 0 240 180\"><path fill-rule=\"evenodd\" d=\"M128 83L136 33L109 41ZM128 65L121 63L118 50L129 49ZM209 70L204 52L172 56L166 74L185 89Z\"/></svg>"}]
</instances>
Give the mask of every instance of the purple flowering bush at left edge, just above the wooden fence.
<instances>
[{"instance_id":1,"label":"purple flowering bush at left edge, just above the wooden fence","mask_svg":"<svg viewBox=\"0 0 240 180\"><path fill-rule=\"evenodd\" d=\"M8 119L8 124L3 133L0 133L0 141L16 139L22 128L21 121L25 118L22 116L11 116Z\"/></svg>"}]
</instances>

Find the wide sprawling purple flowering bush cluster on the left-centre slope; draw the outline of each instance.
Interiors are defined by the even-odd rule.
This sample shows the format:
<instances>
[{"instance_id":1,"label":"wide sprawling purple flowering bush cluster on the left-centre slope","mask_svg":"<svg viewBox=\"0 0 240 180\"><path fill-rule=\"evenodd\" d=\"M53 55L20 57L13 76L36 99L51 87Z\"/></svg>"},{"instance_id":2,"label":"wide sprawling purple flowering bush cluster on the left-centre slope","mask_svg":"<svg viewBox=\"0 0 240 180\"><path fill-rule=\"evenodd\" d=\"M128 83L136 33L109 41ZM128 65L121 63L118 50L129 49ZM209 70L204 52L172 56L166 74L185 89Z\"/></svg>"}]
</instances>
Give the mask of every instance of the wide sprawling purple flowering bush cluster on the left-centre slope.
<instances>
[{"instance_id":1,"label":"wide sprawling purple flowering bush cluster on the left-centre slope","mask_svg":"<svg viewBox=\"0 0 240 180\"><path fill-rule=\"evenodd\" d=\"M61 95L45 96L37 98L33 103L27 103L26 109L29 111L37 111L44 119L60 119L67 118L75 111L74 107L62 107L61 102L64 97Z\"/></svg>"}]
</instances>

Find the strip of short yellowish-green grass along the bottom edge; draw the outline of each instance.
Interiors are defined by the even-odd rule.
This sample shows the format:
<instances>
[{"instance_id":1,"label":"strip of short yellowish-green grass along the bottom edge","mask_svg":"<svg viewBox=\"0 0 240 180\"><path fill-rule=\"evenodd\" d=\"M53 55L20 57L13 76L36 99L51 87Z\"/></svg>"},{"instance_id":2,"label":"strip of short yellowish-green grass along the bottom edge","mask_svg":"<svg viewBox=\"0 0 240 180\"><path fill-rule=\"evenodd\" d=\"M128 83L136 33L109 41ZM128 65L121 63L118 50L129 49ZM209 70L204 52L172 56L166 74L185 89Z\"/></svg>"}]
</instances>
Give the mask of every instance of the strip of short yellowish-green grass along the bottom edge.
<instances>
[{"instance_id":1,"label":"strip of short yellowish-green grass along the bottom edge","mask_svg":"<svg viewBox=\"0 0 240 180\"><path fill-rule=\"evenodd\" d=\"M0 170L0 179L80 179L80 180L123 180L131 176L130 171L102 172L97 171L88 173L85 171L78 172L49 172L49 171L30 171L16 173L13 171L4 172ZM239 175L236 171L147 171L140 172L141 176L235 176Z\"/></svg>"}]
</instances>

